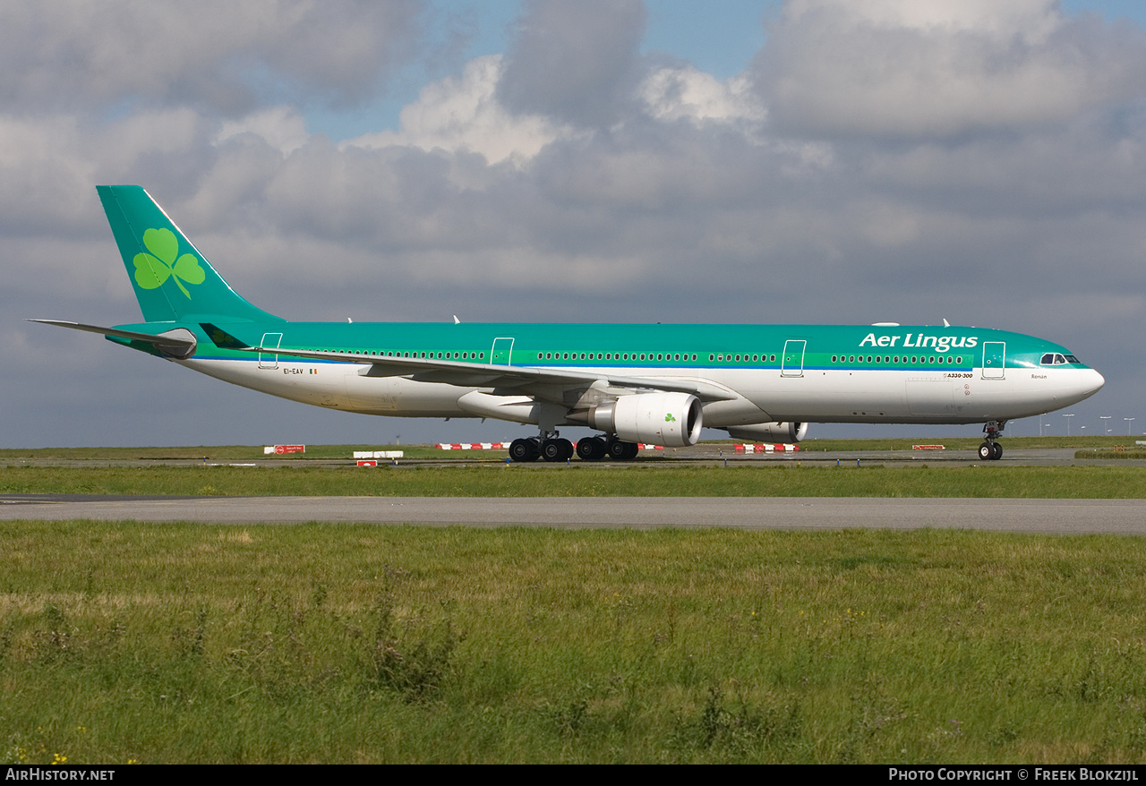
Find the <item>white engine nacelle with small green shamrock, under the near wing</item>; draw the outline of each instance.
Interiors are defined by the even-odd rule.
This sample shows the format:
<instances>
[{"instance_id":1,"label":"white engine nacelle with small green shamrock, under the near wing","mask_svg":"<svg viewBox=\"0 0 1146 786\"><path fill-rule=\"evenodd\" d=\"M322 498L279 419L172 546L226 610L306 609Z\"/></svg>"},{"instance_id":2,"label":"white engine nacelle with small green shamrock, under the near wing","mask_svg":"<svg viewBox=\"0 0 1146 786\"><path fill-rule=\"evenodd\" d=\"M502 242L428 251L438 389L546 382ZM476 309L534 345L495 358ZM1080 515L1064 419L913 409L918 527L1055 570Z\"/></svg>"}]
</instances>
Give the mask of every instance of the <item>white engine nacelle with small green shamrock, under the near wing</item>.
<instances>
[{"instance_id":1,"label":"white engine nacelle with small green shamrock, under the near wing","mask_svg":"<svg viewBox=\"0 0 1146 786\"><path fill-rule=\"evenodd\" d=\"M589 425L626 442L673 448L696 445L704 412L689 393L634 393L589 410Z\"/></svg>"}]
</instances>

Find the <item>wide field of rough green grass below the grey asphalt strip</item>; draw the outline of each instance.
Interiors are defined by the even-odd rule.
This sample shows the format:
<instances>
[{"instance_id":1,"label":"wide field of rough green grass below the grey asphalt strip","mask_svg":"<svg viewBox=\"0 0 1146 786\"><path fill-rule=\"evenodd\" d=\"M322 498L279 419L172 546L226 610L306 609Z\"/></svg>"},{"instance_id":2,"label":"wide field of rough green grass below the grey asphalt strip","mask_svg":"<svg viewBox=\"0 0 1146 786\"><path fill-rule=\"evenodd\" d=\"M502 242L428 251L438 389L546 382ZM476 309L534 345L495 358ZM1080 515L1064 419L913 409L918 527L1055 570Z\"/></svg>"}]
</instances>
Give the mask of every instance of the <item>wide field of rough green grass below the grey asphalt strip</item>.
<instances>
[{"instance_id":1,"label":"wide field of rough green grass below the grey asphalt strip","mask_svg":"<svg viewBox=\"0 0 1146 786\"><path fill-rule=\"evenodd\" d=\"M1146 540L0 525L0 759L1140 762Z\"/></svg>"}]
</instances>

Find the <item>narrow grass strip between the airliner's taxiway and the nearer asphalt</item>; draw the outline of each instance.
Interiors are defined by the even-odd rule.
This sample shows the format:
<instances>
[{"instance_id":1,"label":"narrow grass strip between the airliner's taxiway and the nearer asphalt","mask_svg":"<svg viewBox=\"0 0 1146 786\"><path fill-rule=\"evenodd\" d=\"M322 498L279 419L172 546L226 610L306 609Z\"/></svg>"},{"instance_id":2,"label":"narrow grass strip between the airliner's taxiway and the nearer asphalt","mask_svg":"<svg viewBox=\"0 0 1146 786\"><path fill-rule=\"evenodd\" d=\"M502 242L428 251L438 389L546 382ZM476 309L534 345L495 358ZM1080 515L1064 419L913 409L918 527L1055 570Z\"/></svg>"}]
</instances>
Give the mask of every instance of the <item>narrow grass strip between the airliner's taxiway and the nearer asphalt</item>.
<instances>
[{"instance_id":1,"label":"narrow grass strip between the airliner's taxiway and the nearer asphalt","mask_svg":"<svg viewBox=\"0 0 1146 786\"><path fill-rule=\"evenodd\" d=\"M3 494L1144 498L1135 466L0 467Z\"/></svg>"}]
</instances>

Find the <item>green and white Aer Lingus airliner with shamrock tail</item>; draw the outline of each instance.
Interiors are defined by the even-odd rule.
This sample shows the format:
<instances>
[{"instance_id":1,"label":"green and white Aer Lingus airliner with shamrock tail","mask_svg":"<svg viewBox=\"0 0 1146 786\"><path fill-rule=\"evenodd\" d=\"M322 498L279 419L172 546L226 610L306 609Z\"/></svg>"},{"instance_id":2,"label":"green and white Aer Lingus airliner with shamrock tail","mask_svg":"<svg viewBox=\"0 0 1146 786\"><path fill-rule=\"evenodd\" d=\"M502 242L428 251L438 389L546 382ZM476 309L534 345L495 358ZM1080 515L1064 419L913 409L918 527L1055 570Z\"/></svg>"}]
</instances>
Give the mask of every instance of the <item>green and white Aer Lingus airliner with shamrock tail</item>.
<instances>
[{"instance_id":1,"label":"green and white Aer Lingus airliner with shamrock tail","mask_svg":"<svg viewBox=\"0 0 1146 786\"><path fill-rule=\"evenodd\" d=\"M539 427L518 462L564 461L560 426L599 435L589 461L638 442L800 440L808 423L986 423L1093 395L1102 376L1065 347L982 328L288 322L240 297L139 186L96 189L143 322L36 320L284 399L392 417L492 417Z\"/></svg>"}]
</instances>

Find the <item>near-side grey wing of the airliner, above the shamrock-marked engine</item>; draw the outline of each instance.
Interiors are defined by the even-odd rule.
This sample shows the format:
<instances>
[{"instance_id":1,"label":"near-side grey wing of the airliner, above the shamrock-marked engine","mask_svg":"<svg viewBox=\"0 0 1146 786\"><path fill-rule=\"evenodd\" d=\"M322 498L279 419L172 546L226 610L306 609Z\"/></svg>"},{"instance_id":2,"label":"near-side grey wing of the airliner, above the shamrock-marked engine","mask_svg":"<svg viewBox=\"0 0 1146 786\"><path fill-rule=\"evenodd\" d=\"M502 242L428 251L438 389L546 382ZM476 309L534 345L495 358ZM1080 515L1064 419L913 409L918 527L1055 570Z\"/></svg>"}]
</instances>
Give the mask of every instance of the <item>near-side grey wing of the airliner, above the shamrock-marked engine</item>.
<instances>
[{"instance_id":1,"label":"near-side grey wing of the airliner, above the shamrock-marked engine","mask_svg":"<svg viewBox=\"0 0 1146 786\"><path fill-rule=\"evenodd\" d=\"M512 395L545 395L539 388L587 387L604 382L618 391L669 391L691 393L701 401L731 401L739 395L705 379L686 377L630 377L610 371L578 371L575 369L532 368L528 366L494 366L429 357L391 357L354 352L322 352L283 347L244 347L243 352L262 352L289 357L336 361L339 363L369 363L368 377L409 377L416 382L437 382L460 387L493 387L497 393ZM536 393L535 393L536 391Z\"/></svg>"}]
</instances>

